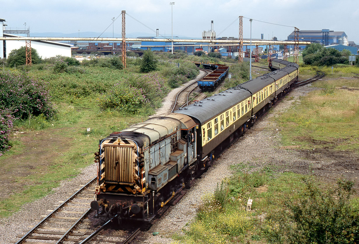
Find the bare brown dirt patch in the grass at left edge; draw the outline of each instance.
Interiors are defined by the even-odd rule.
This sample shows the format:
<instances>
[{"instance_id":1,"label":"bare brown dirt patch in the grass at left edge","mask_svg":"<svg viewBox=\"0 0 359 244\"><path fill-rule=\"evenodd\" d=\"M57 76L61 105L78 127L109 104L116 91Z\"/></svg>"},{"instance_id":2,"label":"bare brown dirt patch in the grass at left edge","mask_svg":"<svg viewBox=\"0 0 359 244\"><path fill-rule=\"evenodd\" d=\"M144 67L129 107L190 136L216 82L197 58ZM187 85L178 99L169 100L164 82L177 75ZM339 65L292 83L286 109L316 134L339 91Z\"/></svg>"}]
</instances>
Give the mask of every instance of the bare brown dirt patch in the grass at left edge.
<instances>
[{"instance_id":1,"label":"bare brown dirt patch in the grass at left edge","mask_svg":"<svg viewBox=\"0 0 359 244\"><path fill-rule=\"evenodd\" d=\"M17 145L19 154L0 159L1 174L0 200L10 194L22 192L29 182L25 179L32 174L42 174L48 171L48 166L55 158L61 156L70 146L68 138L64 137L64 130L71 128L50 128L42 131L17 131L11 140L19 140ZM21 133L20 133L21 132ZM16 135L14 135L16 134ZM21 180L19 180L21 179Z\"/></svg>"}]
</instances>

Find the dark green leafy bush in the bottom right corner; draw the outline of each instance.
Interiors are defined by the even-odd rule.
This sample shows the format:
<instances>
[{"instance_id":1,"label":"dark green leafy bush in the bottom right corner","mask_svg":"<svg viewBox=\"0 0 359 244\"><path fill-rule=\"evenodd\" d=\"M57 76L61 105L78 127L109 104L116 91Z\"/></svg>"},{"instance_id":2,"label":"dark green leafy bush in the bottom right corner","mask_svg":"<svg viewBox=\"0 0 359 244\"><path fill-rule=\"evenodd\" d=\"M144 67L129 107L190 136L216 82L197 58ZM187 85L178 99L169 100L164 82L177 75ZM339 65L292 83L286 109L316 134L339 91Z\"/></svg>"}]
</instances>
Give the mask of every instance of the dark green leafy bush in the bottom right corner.
<instances>
[{"instance_id":1,"label":"dark green leafy bush in the bottom right corner","mask_svg":"<svg viewBox=\"0 0 359 244\"><path fill-rule=\"evenodd\" d=\"M335 189L322 191L305 179L306 189L284 210L271 213L265 229L272 243L359 243L359 213L350 206L354 183L339 180Z\"/></svg>"}]
</instances>

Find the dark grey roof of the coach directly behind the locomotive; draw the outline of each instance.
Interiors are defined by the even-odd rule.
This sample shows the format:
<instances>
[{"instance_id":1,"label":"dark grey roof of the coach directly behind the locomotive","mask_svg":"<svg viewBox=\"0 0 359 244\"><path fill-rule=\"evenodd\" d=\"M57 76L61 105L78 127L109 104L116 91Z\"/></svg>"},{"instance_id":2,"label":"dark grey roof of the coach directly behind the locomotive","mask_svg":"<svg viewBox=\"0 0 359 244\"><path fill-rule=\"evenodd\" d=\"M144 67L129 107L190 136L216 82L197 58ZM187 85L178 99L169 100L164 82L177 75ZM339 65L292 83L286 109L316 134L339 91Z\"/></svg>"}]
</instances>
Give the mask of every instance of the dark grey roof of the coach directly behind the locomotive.
<instances>
[{"instance_id":1,"label":"dark grey roof of the coach directly behind the locomotive","mask_svg":"<svg viewBox=\"0 0 359 244\"><path fill-rule=\"evenodd\" d=\"M250 97L250 92L241 88L232 88L215 94L185 108L178 109L174 113L186 114L198 119L203 124L211 118L218 116L227 109L233 107L242 100Z\"/></svg>"}]
</instances>

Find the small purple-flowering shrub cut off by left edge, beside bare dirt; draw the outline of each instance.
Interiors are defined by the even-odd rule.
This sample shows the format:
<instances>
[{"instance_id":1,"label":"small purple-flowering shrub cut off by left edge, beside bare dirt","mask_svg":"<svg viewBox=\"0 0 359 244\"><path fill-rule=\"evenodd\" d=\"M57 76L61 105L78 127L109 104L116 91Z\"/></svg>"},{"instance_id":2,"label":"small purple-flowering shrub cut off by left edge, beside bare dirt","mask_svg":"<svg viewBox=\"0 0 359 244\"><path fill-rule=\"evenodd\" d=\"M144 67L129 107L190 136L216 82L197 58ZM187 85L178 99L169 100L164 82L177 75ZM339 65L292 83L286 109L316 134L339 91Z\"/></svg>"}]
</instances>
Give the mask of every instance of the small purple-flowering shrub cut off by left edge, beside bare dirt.
<instances>
[{"instance_id":1,"label":"small purple-flowering shrub cut off by left edge, beside bare dirt","mask_svg":"<svg viewBox=\"0 0 359 244\"><path fill-rule=\"evenodd\" d=\"M7 109L0 109L0 156L1 152L8 150L9 137L11 129L13 128L13 119L11 112Z\"/></svg>"}]
</instances>

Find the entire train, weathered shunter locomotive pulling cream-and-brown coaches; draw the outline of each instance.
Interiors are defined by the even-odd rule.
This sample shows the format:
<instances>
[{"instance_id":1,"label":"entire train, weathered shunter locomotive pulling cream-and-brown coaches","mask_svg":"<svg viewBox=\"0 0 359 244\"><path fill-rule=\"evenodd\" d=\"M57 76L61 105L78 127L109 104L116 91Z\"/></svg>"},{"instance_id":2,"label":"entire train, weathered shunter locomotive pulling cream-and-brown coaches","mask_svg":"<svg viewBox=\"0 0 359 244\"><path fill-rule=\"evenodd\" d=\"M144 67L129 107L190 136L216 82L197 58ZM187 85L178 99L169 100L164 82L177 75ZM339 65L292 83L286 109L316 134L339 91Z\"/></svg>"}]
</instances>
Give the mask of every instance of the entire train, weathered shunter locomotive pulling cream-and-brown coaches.
<instances>
[{"instance_id":1,"label":"entire train, weathered shunter locomotive pulling cream-and-brown coaches","mask_svg":"<svg viewBox=\"0 0 359 244\"><path fill-rule=\"evenodd\" d=\"M101 139L91 207L120 220L151 221L292 88L298 67L272 60L269 74Z\"/></svg>"}]
</instances>

